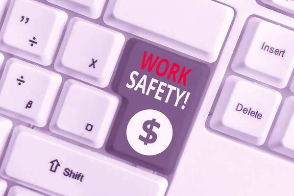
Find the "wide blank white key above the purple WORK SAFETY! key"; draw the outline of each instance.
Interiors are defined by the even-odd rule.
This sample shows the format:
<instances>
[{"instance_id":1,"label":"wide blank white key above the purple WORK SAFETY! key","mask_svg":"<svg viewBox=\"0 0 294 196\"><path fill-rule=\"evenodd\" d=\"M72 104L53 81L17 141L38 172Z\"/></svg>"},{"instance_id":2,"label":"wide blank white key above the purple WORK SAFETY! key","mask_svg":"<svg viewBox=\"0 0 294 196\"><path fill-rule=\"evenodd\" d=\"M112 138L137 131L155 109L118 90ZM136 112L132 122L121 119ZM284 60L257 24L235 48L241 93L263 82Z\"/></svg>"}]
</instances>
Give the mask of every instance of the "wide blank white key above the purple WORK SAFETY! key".
<instances>
[{"instance_id":1,"label":"wide blank white key above the purple WORK SAFETY! key","mask_svg":"<svg viewBox=\"0 0 294 196\"><path fill-rule=\"evenodd\" d=\"M110 0L103 19L107 25L212 63L233 17L232 8L212 0Z\"/></svg>"}]
</instances>

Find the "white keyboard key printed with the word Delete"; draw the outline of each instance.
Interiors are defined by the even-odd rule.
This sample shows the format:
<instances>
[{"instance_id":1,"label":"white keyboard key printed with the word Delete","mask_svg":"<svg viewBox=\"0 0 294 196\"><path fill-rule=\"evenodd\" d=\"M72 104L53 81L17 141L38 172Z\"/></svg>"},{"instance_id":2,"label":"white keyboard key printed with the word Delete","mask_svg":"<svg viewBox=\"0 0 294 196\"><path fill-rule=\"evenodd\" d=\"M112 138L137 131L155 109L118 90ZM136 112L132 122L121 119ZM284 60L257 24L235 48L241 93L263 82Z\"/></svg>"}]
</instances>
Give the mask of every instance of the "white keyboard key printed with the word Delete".
<instances>
[{"instance_id":1,"label":"white keyboard key printed with the word Delete","mask_svg":"<svg viewBox=\"0 0 294 196\"><path fill-rule=\"evenodd\" d=\"M227 77L210 126L246 142L264 144L280 105L279 92L237 76Z\"/></svg>"}]
</instances>

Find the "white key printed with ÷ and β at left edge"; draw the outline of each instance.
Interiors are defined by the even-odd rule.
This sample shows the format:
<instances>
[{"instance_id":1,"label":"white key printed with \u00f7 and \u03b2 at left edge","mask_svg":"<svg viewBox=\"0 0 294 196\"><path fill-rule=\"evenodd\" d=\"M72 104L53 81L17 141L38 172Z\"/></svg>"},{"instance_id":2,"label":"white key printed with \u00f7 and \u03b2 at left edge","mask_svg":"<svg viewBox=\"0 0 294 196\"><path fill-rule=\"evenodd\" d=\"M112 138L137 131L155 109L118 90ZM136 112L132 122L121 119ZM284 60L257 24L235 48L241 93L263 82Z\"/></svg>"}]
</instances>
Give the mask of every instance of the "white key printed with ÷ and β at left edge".
<instances>
[{"instance_id":1,"label":"white key printed with \u00f7 and \u03b2 at left edge","mask_svg":"<svg viewBox=\"0 0 294 196\"><path fill-rule=\"evenodd\" d=\"M0 113L45 126L61 80L57 73L8 59L0 80Z\"/></svg>"}]
</instances>

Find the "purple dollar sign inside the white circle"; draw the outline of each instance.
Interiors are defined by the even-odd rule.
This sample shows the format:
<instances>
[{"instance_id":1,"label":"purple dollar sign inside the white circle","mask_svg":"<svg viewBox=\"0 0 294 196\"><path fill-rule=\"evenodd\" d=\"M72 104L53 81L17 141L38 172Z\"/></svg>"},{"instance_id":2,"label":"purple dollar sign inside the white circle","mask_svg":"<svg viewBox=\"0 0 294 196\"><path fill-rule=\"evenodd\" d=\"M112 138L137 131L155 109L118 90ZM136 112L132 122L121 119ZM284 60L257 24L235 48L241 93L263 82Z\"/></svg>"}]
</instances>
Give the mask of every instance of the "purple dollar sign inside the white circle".
<instances>
[{"instance_id":1,"label":"purple dollar sign inside the white circle","mask_svg":"<svg viewBox=\"0 0 294 196\"><path fill-rule=\"evenodd\" d=\"M148 125L150 125L149 128L148 128ZM157 128L160 127L160 124L156 122L156 119L152 119L152 121L145 121L143 123L142 128L147 133L147 136L145 138L144 136L139 135L139 140L144 142L144 145L152 144L152 143L154 143L156 141L157 135L152 130L154 126L157 127ZM151 138L150 138L150 136L151 136Z\"/></svg>"}]
</instances>

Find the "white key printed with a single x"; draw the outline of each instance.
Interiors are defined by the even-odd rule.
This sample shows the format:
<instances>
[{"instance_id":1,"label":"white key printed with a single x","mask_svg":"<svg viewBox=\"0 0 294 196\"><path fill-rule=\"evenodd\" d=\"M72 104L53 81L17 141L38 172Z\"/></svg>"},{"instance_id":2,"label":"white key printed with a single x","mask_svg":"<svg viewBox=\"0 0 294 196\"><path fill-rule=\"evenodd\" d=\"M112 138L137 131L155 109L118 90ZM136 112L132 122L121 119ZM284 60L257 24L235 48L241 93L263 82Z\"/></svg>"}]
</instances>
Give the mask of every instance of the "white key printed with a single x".
<instances>
[{"instance_id":1,"label":"white key printed with a single x","mask_svg":"<svg viewBox=\"0 0 294 196\"><path fill-rule=\"evenodd\" d=\"M61 73L104 88L109 84L123 43L122 33L73 18L54 67Z\"/></svg>"}]
</instances>

